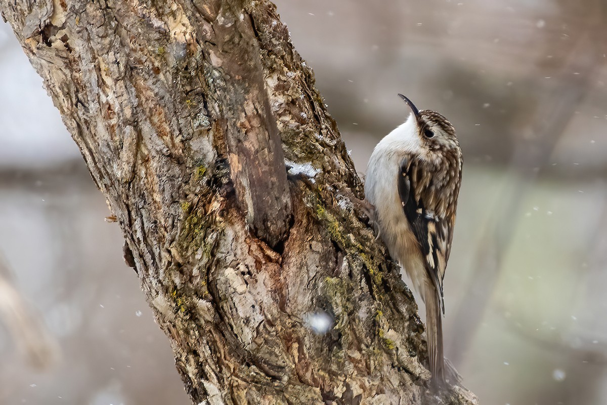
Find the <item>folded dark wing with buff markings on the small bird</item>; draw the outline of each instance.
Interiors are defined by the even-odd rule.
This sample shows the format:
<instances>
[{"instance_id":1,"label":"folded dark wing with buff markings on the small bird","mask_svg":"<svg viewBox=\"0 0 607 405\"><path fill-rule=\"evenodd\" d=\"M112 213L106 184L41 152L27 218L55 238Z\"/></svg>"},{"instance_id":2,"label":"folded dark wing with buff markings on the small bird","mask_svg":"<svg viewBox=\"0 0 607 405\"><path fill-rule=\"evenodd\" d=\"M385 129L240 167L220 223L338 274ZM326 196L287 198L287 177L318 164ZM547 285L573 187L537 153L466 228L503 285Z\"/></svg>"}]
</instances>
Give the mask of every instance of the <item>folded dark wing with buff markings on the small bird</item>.
<instances>
[{"instance_id":1,"label":"folded dark wing with buff markings on the small bird","mask_svg":"<svg viewBox=\"0 0 607 405\"><path fill-rule=\"evenodd\" d=\"M440 208L438 190L432 186L432 172L415 160L405 159L398 174L398 194L402 210L426 259L426 270L439 294L444 313L443 278L451 250L455 213ZM436 209L434 209L436 208Z\"/></svg>"}]
</instances>

